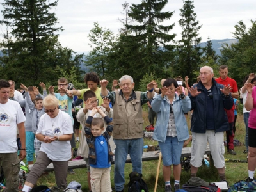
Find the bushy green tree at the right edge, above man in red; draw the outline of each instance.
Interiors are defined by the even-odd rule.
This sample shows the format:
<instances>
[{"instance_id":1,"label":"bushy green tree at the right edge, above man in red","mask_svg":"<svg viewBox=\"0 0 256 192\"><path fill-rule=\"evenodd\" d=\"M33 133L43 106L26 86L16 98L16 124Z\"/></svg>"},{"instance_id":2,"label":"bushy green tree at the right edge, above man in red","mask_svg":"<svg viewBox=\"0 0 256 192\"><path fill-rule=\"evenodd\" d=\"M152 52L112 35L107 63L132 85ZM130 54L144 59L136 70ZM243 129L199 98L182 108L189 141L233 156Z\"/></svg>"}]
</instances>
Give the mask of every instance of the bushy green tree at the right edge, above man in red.
<instances>
[{"instance_id":1,"label":"bushy green tree at the right edge, above man in red","mask_svg":"<svg viewBox=\"0 0 256 192\"><path fill-rule=\"evenodd\" d=\"M238 86L243 86L245 76L255 72L256 69L256 21L251 20L252 26L240 20L232 33L237 43L224 44L221 49L220 64L228 66L228 76L236 79Z\"/></svg>"}]
</instances>

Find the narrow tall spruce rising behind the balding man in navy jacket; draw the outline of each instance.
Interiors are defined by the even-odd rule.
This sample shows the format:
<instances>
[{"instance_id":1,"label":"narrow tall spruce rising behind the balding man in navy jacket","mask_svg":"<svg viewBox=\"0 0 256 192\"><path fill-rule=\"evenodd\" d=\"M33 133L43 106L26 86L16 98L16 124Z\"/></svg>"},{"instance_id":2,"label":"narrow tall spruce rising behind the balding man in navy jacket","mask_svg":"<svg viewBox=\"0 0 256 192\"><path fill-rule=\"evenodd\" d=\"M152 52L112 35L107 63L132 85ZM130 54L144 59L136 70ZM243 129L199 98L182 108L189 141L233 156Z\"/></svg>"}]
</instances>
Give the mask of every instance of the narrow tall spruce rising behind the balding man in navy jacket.
<instances>
[{"instance_id":1,"label":"narrow tall spruce rising behind the balding man in navy jacket","mask_svg":"<svg viewBox=\"0 0 256 192\"><path fill-rule=\"evenodd\" d=\"M179 25L182 28L182 33L181 40L177 45L175 65L173 65L175 76L185 77L191 72L199 70L200 56L202 55L199 44L202 38L199 37L198 31L202 25L199 25L199 21L196 20L193 8L193 1L186 0L183 1L183 8L180 9L182 18L179 20Z\"/></svg>"}]
</instances>

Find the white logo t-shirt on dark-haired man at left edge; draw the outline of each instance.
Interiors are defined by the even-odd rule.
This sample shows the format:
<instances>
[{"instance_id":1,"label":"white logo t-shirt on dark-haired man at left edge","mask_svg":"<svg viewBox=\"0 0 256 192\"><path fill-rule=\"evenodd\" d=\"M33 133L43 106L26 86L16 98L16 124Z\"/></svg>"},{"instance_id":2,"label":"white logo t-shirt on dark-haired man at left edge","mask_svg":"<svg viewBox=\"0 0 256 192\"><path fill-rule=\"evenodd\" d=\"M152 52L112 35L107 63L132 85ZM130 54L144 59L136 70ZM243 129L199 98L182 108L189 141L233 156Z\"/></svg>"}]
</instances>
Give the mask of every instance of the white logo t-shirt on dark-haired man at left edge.
<instances>
[{"instance_id":1,"label":"white logo t-shirt on dark-haired man at left edge","mask_svg":"<svg viewBox=\"0 0 256 192\"><path fill-rule=\"evenodd\" d=\"M17 152L17 124L24 121L26 117L18 102L0 103L0 153Z\"/></svg>"}]
</instances>

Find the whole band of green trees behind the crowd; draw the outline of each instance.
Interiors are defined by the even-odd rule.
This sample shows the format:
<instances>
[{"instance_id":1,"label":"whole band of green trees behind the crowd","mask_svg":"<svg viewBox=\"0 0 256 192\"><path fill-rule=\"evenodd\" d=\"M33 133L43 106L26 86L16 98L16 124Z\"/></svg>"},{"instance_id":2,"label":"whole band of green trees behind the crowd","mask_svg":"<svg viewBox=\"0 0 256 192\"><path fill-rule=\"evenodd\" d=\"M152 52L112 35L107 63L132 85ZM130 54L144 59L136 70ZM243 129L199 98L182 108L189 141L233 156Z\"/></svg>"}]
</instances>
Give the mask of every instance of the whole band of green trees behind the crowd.
<instances>
[{"instance_id":1,"label":"whole band of green trees behind the crowd","mask_svg":"<svg viewBox=\"0 0 256 192\"><path fill-rule=\"evenodd\" d=\"M189 76L189 83L196 81L200 67L209 65L218 77L218 66L227 65L230 77L241 85L244 76L255 69L255 21L247 28L239 21L233 32L236 44L224 44L222 56L216 56L211 39L202 48L200 22L196 19L193 1L184 0L180 8L180 40L172 33L175 24L164 26L173 12L163 12L168 0L143 0L140 4L122 4L124 19L120 33L115 36L107 28L94 23L88 38L90 52L77 54L62 47L56 28L58 23L52 8L58 1L4 0L3 20L6 27L0 42L3 56L0 57L2 79L35 85L44 80L56 83L60 76L72 81L77 88L83 87L80 65L84 63L102 79L119 79L131 75L136 89L145 90L145 82L161 78Z\"/></svg>"}]
</instances>

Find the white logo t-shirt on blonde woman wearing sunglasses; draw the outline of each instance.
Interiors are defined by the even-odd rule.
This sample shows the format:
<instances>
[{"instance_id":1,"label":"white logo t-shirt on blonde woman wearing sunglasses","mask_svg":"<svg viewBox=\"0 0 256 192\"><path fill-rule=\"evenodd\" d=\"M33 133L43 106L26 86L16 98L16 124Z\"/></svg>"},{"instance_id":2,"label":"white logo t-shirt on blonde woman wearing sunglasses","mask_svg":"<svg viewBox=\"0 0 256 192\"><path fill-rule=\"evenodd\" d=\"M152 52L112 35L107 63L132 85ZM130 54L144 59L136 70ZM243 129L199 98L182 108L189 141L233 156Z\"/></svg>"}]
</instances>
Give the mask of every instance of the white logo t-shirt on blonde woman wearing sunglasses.
<instances>
[{"instance_id":1,"label":"white logo t-shirt on blonde woman wearing sunglasses","mask_svg":"<svg viewBox=\"0 0 256 192\"><path fill-rule=\"evenodd\" d=\"M53 126L52 126L53 125ZM41 116L36 134L45 136L61 136L63 134L73 134L73 125L68 113L59 110L56 117L49 115ZM52 161L68 161L71 158L70 141L53 141L52 143L42 143L39 151L45 152Z\"/></svg>"}]
</instances>

